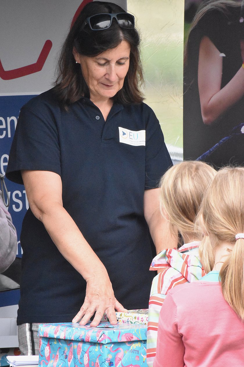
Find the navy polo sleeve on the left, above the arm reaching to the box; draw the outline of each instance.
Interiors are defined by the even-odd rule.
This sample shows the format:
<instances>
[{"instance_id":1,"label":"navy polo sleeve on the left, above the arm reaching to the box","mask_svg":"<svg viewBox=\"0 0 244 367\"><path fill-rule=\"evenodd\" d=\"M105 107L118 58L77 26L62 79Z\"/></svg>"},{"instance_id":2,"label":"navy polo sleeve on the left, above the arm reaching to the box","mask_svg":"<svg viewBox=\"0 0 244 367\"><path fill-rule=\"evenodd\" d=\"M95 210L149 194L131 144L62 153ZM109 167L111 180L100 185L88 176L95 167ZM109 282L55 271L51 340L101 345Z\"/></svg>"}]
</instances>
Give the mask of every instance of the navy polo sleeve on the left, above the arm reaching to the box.
<instances>
[{"instance_id":1,"label":"navy polo sleeve on the left, above the arm reaching to the box","mask_svg":"<svg viewBox=\"0 0 244 367\"><path fill-rule=\"evenodd\" d=\"M24 106L20 110L6 171L6 177L16 183L23 183L21 170L61 175L57 124L48 106L42 107L40 110L40 106L38 109Z\"/></svg>"}]
</instances>

